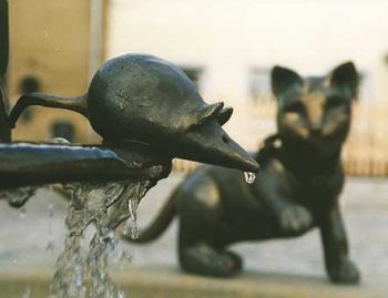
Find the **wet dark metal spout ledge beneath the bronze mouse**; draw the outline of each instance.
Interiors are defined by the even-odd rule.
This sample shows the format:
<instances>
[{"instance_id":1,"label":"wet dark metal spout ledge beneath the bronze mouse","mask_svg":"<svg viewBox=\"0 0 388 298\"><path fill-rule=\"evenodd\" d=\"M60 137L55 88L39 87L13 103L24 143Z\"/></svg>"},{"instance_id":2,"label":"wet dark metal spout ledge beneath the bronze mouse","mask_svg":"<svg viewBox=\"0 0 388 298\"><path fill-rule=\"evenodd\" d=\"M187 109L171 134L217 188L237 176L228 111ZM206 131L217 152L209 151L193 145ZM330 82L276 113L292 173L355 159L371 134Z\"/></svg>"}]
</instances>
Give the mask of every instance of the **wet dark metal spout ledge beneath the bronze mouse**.
<instances>
[{"instance_id":1,"label":"wet dark metal spout ledge beneath the bronze mouse","mask_svg":"<svg viewBox=\"0 0 388 298\"><path fill-rule=\"evenodd\" d=\"M69 182L142 181L150 177L154 166L169 168L165 160L144 156L139 146L122 152L136 161L127 162L122 153L103 145L1 143L0 188Z\"/></svg>"}]
</instances>

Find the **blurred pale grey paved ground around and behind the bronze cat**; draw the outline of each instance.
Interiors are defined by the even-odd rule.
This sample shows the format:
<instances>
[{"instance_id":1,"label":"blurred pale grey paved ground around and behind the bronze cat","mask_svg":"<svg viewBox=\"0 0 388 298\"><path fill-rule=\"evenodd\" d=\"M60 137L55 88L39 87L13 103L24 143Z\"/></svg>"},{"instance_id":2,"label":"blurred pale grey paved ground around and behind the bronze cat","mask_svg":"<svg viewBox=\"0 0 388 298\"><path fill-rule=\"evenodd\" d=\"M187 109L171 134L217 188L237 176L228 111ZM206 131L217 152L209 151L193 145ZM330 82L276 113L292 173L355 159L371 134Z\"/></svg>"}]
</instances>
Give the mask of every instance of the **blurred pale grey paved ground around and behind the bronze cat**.
<instances>
[{"instance_id":1,"label":"blurred pale grey paved ground around and behind the bronze cat","mask_svg":"<svg viewBox=\"0 0 388 298\"><path fill-rule=\"evenodd\" d=\"M182 175L173 174L147 194L139 209L140 225L153 218L181 181ZM364 285L388 292L388 179L348 178L343 205L351 256L363 273ZM0 202L0 273L52 268L63 247L65 208L63 199L49 191L40 191L22 212ZM153 244L120 244L112 264L122 270L176 268L175 235L176 220ZM317 232L292 240L239 244L234 249L244 256L246 273L325 279ZM133 257L130 267L118 265L123 251Z\"/></svg>"}]
</instances>

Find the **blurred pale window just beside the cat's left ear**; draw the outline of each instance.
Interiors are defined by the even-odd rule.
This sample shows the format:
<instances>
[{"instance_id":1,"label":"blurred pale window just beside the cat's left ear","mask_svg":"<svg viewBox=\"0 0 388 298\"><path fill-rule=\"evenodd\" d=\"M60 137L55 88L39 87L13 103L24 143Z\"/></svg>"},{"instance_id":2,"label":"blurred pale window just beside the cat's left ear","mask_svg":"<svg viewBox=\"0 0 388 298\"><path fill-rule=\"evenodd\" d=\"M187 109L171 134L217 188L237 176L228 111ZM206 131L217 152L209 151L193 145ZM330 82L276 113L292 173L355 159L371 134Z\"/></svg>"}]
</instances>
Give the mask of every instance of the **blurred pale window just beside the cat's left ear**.
<instances>
[{"instance_id":1,"label":"blurred pale window just beside the cat's left ear","mask_svg":"<svg viewBox=\"0 0 388 298\"><path fill-rule=\"evenodd\" d=\"M254 103L272 99L269 69L254 68L251 70L249 95Z\"/></svg>"}]
</instances>

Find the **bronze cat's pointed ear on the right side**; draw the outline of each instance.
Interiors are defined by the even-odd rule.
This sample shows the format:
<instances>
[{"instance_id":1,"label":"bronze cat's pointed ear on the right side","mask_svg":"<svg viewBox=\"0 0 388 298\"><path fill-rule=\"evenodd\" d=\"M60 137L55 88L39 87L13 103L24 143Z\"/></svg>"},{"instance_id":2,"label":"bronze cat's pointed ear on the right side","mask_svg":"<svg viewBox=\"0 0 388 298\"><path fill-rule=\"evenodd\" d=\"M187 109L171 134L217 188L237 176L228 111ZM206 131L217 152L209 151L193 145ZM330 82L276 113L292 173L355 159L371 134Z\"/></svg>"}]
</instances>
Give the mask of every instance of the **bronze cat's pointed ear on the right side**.
<instances>
[{"instance_id":1,"label":"bronze cat's pointed ear on the right side","mask_svg":"<svg viewBox=\"0 0 388 298\"><path fill-rule=\"evenodd\" d=\"M340 64L331 72L330 85L349 99L357 97L358 73L353 62Z\"/></svg>"}]
</instances>

